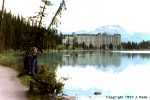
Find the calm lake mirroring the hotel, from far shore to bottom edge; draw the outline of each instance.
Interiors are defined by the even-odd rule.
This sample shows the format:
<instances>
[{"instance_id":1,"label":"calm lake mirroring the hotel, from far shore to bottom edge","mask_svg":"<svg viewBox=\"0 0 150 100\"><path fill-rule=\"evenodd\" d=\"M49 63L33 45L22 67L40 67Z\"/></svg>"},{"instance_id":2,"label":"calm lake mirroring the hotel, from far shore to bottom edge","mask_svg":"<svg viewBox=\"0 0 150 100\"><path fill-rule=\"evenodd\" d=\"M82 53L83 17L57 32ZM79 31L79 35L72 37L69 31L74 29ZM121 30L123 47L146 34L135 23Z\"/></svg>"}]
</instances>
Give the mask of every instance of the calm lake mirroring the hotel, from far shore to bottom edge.
<instances>
[{"instance_id":1,"label":"calm lake mirroring the hotel, from far shore to bottom edge","mask_svg":"<svg viewBox=\"0 0 150 100\"><path fill-rule=\"evenodd\" d=\"M58 77L68 79L64 94L77 100L150 99L149 51L50 52L39 63L56 64Z\"/></svg>"}]
</instances>

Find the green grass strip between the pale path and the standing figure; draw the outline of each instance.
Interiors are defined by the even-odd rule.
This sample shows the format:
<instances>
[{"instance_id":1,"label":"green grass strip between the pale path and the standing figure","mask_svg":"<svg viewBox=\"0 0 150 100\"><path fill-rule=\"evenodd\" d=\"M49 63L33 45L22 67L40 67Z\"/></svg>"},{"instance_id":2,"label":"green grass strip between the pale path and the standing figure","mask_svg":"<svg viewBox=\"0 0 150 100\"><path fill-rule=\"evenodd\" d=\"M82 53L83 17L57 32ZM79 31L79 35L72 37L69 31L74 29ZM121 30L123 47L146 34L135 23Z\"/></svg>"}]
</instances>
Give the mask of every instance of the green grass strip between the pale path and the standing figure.
<instances>
[{"instance_id":1,"label":"green grass strip between the pale path and the standing figure","mask_svg":"<svg viewBox=\"0 0 150 100\"><path fill-rule=\"evenodd\" d=\"M19 78L21 84L28 87L28 84L31 78L27 75L20 76L23 70L23 62L19 54L21 53L18 51L1 52L0 53L0 65L14 69L17 72L17 78ZM29 96L27 97L29 100L34 100L34 99L30 99Z\"/></svg>"}]
</instances>

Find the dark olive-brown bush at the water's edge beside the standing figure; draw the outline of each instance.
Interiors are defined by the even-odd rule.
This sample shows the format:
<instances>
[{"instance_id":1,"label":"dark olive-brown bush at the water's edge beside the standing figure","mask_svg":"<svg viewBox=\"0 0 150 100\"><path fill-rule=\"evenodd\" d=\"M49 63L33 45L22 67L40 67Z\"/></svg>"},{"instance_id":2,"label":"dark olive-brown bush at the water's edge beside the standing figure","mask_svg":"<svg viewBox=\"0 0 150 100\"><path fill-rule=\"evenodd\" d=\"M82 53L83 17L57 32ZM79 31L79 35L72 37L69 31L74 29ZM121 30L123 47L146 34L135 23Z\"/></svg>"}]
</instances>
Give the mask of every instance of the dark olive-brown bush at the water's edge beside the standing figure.
<instances>
[{"instance_id":1,"label":"dark olive-brown bush at the water's edge beside the standing figure","mask_svg":"<svg viewBox=\"0 0 150 100\"><path fill-rule=\"evenodd\" d=\"M58 95L62 93L64 84L56 80L56 73L48 66L40 66L38 73L30 83L30 90L43 95Z\"/></svg>"}]
</instances>

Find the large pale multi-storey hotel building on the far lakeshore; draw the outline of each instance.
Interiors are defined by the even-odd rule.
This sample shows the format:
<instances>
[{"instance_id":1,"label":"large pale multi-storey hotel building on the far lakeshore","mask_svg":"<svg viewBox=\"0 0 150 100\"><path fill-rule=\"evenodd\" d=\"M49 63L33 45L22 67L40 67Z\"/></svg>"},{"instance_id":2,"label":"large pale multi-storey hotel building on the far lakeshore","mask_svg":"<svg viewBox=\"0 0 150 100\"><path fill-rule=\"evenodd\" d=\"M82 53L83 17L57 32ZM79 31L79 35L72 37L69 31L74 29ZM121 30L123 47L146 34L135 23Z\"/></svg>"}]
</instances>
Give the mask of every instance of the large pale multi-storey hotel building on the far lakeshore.
<instances>
[{"instance_id":1,"label":"large pale multi-storey hotel building on the far lakeshore","mask_svg":"<svg viewBox=\"0 0 150 100\"><path fill-rule=\"evenodd\" d=\"M71 34L64 35L63 44L70 44L76 42L78 44L83 44L87 47L92 45L95 48L102 48L105 45L106 48L109 48L109 45L112 44L113 48L117 48L117 46L121 45L121 35L120 34L106 34L106 33L98 33L98 34Z\"/></svg>"}]
</instances>

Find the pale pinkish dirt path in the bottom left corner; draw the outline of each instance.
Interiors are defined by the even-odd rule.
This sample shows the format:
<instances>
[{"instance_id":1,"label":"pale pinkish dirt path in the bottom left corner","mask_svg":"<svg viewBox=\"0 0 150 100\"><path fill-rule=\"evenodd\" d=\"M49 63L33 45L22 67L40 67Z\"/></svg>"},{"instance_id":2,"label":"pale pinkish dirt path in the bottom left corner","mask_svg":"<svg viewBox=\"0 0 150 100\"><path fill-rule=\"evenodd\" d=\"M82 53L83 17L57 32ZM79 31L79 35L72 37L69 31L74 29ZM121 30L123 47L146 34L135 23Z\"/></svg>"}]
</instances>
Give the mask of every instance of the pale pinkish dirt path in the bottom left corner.
<instances>
[{"instance_id":1,"label":"pale pinkish dirt path in the bottom left corner","mask_svg":"<svg viewBox=\"0 0 150 100\"><path fill-rule=\"evenodd\" d=\"M27 100L27 89L16 75L14 70L0 65L0 100Z\"/></svg>"}]
</instances>

